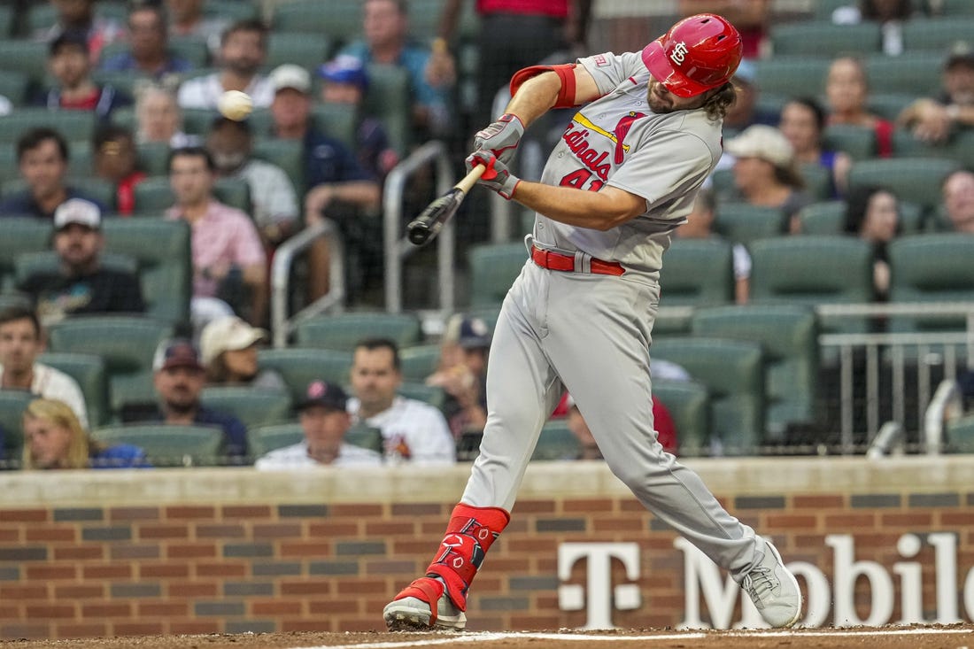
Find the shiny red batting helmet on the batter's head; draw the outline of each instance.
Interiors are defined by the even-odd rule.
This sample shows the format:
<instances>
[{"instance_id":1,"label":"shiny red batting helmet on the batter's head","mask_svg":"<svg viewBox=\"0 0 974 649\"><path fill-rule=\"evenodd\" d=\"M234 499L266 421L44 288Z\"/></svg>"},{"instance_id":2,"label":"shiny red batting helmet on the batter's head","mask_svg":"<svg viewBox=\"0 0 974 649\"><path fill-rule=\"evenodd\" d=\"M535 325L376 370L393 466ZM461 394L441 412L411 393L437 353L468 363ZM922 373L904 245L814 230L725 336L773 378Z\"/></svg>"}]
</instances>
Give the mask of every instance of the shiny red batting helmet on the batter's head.
<instances>
[{"instance_id":1,"label":"shiny red batting helmet on the batter's head","mask_svg":"<svg viewBox=\"0 0 974 649\"><path fill-rule=\"evenodd\" d=\"M682 19L643 49L643 62L669 92L694 96L719 88L740 62L740 34L727 19Z\"/></svg>"}]
</instances>

